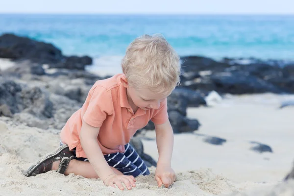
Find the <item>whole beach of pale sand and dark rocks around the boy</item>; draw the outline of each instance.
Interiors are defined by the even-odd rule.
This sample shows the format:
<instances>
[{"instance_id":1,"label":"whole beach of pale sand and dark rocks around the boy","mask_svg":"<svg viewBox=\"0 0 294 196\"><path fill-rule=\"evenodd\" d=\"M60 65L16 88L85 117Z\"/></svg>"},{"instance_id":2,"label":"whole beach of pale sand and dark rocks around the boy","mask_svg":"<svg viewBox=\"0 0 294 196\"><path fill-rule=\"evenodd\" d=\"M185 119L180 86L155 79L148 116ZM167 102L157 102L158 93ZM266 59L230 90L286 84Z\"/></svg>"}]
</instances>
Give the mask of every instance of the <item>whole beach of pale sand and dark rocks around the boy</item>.
<instances>
[{"instance_id":1,"label":"whole beach of pale sand and dark rocks around the boy","mask_svg":"<svg viewBox=\"0 0 294 196\"><path fill-rule=\"evenodd\" d=\"M294 179L284 180L294 165L293 61L181 56L181 84L167 98L177 179L157 187L149 122L132 139L150 156L151 174L121 191L55 171L25 177L59 147L60 130L94 83L121 73L110 61L119 64L120 55L68 56L14 34L0 36L1 51L0 196L294 196Z\"/></svg>"}]
</instances>

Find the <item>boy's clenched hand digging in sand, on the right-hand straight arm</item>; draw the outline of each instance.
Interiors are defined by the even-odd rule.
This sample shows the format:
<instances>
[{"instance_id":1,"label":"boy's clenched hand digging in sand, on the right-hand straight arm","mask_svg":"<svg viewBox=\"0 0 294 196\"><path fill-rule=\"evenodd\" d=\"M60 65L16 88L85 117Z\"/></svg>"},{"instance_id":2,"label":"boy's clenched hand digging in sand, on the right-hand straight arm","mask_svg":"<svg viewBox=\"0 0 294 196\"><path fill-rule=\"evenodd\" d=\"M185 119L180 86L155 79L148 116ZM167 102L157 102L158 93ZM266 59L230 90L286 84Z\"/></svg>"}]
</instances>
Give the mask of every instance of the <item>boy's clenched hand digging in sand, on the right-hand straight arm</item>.
<instances>
[{"instance_id":1,"label":"boy's clenched hand digging in sand, on the right-hand straight arm","mask_svg":"<svg viewBox=\"0 0 294 196\"><path fill-rule=\"evenodd\" d=\"M164 184L166 188L169 188L175 181L176 176L171 167L158 166L155 171L155 179L158 187Z\"/></svg>"}]
</instances>

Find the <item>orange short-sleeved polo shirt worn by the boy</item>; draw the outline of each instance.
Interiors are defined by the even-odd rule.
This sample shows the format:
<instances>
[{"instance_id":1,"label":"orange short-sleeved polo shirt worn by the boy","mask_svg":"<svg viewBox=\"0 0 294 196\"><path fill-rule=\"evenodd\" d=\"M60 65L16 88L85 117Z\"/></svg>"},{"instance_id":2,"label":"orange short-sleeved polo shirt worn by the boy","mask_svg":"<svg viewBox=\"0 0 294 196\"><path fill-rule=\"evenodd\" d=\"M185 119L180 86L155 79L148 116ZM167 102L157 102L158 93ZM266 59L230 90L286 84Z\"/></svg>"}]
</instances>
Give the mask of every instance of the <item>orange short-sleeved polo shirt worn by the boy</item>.
<instances>
[{"instance_id":1,"label":"orange short-sleeved polo shirt worn by the boy","mask_svg":"<svg viewBox=\"0 0 294 196\"><path fill-rule=\"evenodd\" d=\"M167 99L160 103L159 109L143 110L136 113L128 103L126 88L121 77L116 74L111 78L98 80L90 89L83 106L69 118L62 128L60 137L70 149L76 147L76 156L87 158L79 133L83 122L100 127L98 144L103 154L124 152L124 145L130 142L135 132L143 128L151 120L162 124L168 120Z\"/></svg>"}]
</instances>

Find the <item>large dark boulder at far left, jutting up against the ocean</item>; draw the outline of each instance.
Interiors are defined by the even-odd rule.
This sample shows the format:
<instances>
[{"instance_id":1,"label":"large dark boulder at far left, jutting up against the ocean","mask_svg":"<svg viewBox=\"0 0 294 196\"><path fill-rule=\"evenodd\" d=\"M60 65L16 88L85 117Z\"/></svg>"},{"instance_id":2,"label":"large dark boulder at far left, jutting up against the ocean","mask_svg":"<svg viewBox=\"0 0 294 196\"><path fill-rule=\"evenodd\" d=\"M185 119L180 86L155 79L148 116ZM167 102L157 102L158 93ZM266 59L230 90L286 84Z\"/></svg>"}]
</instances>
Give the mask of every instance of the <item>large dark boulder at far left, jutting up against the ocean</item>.
<instances>
[{"instance_id":1,"label":"large dark boulder at far left, jutting up against the ocean","mask_svg":"<svg viewBox=\"0 0 294 196\"><path fill-rule=\"evenodd\" d=\"M89 56L64 56L54 45L14 34L0 36L0 58L14 60L30 60L41 65L48 64L50 68L85 70L92 64ZM43 73L40 67L34 67L34 73Z\"/></svg>"}]
</instances>

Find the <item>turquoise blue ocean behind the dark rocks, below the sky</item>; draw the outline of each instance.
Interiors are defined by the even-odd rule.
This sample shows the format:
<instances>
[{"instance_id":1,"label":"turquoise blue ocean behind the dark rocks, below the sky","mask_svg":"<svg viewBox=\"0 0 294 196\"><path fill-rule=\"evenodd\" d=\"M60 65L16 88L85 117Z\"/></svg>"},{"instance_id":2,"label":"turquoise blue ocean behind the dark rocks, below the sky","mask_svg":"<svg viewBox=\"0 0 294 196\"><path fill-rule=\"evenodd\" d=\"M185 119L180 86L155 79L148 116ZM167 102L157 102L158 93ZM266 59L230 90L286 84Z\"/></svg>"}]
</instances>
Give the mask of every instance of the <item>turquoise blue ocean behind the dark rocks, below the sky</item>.
<instances>
[{"instance_id":1,"label":"turquoise blue ocean behind the dark rocks, below the sky","mask_svg":"<svg viewBox=\"0 0 294 196\"><path fill-rule=\"evenodd\" d=\"M90 55L99 73L120 72L127 45L161 33L181 56L294 60L294 15L29 15L0 14L0 34L54 44L65 55Z\"/></svg>"}]
</instances>

